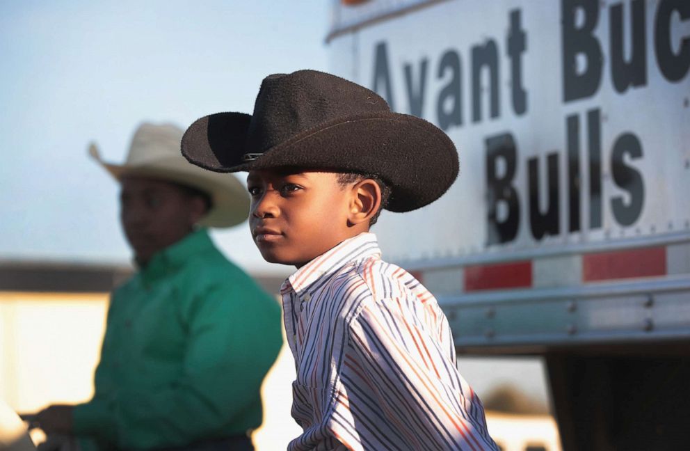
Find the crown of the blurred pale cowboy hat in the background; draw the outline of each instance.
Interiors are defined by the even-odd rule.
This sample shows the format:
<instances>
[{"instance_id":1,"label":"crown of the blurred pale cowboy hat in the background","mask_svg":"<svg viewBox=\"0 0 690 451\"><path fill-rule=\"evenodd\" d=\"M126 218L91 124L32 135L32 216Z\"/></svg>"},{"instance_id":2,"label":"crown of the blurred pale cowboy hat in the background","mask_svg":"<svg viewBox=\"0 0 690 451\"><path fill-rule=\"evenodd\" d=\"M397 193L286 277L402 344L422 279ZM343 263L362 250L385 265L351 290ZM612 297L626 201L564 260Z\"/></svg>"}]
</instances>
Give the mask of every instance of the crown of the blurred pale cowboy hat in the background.
<instances>
[{"instance_id":1,"label":"crown of the blurred pale cowboy hat in the background","mask_svg":"<svg viewBox=\"0 0 690 451\"><path fill-rule=\"evenodd\" d=\"M179 153L182 134L182 129L172 124L143 123L132 136L126 164L128 166L146 166L163 159L184 161ZM186 161L184 162L186 163Z\"/></svg>"}]
</instances>

